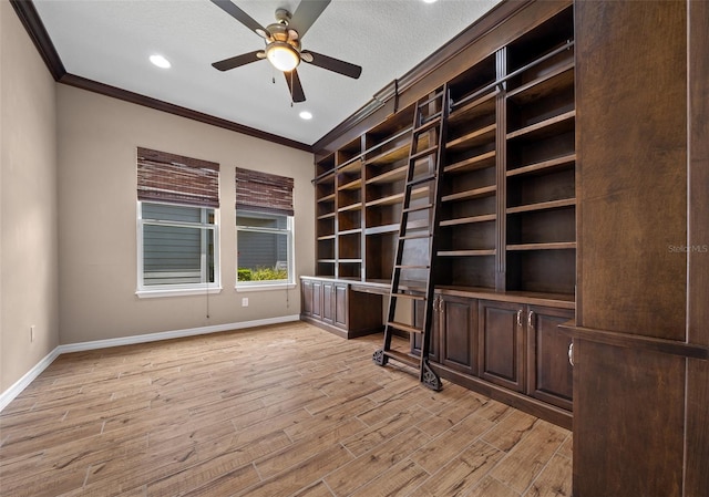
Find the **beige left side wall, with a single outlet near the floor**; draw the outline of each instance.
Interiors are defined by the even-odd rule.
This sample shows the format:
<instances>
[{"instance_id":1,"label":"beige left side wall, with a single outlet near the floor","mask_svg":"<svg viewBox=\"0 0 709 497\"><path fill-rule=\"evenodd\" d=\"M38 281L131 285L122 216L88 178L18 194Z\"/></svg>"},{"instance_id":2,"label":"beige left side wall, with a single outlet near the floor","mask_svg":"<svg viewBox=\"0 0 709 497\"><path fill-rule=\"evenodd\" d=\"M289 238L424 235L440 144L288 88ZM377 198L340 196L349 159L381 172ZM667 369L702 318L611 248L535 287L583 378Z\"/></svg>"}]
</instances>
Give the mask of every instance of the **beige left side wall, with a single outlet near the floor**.
<instances>
[{"instance_id":1,"label":"beige left side wall, with a single outlet near the floor","mask_svg":"<svg viewBox=\"0 0 709 497\"><path fill-rule=\"evenodd\" d=\"M54 80L4 0L0 51L0 392L4 392L59 344L56 116Z\"/></svg>"}]
</instances>

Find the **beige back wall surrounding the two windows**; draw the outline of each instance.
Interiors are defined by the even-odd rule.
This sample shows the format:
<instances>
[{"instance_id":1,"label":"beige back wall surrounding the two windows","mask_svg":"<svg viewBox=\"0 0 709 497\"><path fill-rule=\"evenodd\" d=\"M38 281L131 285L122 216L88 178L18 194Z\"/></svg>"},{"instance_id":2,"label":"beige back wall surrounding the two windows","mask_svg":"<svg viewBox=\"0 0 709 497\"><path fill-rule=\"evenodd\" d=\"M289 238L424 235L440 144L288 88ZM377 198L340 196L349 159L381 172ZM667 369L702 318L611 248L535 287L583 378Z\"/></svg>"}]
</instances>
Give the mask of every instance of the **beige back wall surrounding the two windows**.
<instances>
[{"instance_id":1,"label":"beige back wall surrounding the two windows","mask_svg":"<svg viewBox=\"0 0 709 497\"><path fill-rule=\"evenodd\" d=\"M58 86L61 343L298 314L292 290L236 292L235 167L295 178L296 272L312 275L312 155ZM220 164L220 294L138 299L136 147ZM248 297L249 307L242 307ZM208 317L207 317L208 306Z\"/></svg>"}]
</instances>

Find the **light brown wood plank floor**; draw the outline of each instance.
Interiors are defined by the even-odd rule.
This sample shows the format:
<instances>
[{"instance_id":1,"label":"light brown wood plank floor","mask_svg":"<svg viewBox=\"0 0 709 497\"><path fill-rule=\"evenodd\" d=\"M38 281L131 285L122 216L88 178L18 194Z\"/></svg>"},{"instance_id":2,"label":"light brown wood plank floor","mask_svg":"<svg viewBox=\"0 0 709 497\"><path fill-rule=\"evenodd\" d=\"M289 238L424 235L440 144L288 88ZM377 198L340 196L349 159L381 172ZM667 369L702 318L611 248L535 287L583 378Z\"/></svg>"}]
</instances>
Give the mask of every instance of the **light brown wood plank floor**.
<instances>
[{"instance_id":1,"label":"light brown wood plank floor","mask_svg":"<svg viewBox=\"0 0 709 497\"><path fill-rule=\"evenodd\" d=\"M566 429L306 323L61 355L0 414L2 496L569 496Z\"/></svg>"}]
</instances>

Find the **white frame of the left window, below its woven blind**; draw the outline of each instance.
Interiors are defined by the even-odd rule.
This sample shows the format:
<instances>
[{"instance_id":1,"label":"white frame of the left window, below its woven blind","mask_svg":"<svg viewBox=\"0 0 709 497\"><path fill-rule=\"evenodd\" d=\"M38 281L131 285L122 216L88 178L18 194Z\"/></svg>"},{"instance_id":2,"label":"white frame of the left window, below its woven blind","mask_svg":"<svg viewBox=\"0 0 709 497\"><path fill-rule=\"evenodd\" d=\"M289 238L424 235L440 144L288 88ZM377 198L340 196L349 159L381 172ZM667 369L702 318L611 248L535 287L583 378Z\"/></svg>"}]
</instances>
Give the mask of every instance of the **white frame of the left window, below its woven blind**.
<instances>
[{"instance_id":1,"label":"white frame of the left window, below its woven blind","mask_svg":"<svg viewBox=\"0 0 709 497\"><path fill-rule=\"evenodd\" d=\"M143 218L143 204L156 204L172 207L186 207L201 210L201 222L186 222L175 220L161 220L161 219L145 219ZM206 222L207 210L214 211L214 224ZM137 290L135 291L138 298L154 298L154 297L175 297L175 296L197 296L197 294L214 294L222 291L222 269L219 265L219 209L214 207L195 206L188 204L176 203L162 203L153 200L137 200ZM177 228L192 228L201 230L202 251L201 251L201 275L202 278L206 278L207 275L207 252L205 236L206 230L212 230L214 240L214 282L199 282L199 283L169 283L169 284L145 284L144 281L144 226L169 226Z\"/></svg>"}]
</instances>

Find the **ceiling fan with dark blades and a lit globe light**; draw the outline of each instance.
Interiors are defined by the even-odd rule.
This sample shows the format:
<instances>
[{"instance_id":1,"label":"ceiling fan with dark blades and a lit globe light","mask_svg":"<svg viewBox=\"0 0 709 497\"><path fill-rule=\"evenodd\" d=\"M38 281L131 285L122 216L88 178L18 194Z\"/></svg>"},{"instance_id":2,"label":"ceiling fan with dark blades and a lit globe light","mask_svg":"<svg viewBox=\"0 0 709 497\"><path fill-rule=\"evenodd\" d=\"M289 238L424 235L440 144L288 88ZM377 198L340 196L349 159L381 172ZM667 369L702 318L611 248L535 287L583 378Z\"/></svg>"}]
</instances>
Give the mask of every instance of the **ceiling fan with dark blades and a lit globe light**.
<instances>
[{"instance_id":1,"label":"ceiling fan with dark blades and a lit globe light","mask_svg":"<svg viewBox=\"0 0 709 497\"><path fill-rule=\"evenodd\" d=\"M276 22L266 28L232 3L230 0L212 0L212 2L266 42L264 50L243 53L213 63L212 65L219 71L228 71L267 59L274 68L284 72L292 102L305 102L306 100L296 69L301 61L353 79L358 79L362 73L362 68L359 65L312 51L302 51L300 48L300 40L328 7L330 0L301 0L292 15L286 9L277 9Z\"/></svg>"}]
</instances>

